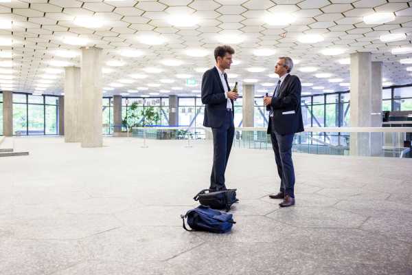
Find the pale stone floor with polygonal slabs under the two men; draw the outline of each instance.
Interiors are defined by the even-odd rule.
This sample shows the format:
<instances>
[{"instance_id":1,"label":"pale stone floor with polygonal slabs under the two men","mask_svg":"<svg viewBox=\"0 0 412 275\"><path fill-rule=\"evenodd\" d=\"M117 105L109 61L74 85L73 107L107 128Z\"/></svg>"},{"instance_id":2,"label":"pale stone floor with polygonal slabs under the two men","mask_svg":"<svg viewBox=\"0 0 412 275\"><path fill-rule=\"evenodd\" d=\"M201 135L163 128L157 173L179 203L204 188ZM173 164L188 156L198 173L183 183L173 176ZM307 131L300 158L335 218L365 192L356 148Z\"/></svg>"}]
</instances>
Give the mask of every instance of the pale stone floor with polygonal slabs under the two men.
<instances>
[{"instance_id":1,"label":"pale stone floor with polygonal slabs under the two men","mask_svg":"<svg viewBox=\"0 0 412 275\"><path fill-rule=\"evenodd\" d=\"M279 208L271 151L234 148L229 234L186 232L211 144L107 137L103 148L16 137L0 159L1 275L411 274L412 159L295 154Z\"/></svg>"}]
</instances>

